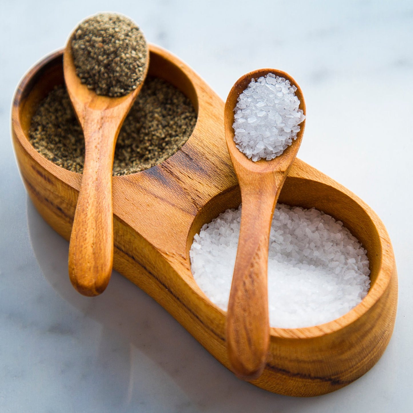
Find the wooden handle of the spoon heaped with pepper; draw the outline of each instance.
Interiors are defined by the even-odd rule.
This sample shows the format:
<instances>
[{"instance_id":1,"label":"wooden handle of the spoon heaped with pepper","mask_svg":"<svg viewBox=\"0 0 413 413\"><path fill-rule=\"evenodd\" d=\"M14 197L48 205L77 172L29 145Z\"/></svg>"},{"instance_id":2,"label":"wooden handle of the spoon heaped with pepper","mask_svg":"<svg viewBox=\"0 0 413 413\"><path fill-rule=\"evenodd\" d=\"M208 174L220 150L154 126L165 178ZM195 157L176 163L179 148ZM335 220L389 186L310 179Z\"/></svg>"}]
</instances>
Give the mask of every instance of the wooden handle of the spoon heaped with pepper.
<instances>
[{"instance_id":1,"label":"wooden handle of the spoon heaped with pepper","mask_svg":"<svg viewBox=\"0 0 413 413\"><path fill-rule=\"evenodd\" d=\"M85 164L69 245L69 276L83 295L101 294L113 264L112 168L117 127L99 112L83 125Z\"/></svg>"}]
</instances>

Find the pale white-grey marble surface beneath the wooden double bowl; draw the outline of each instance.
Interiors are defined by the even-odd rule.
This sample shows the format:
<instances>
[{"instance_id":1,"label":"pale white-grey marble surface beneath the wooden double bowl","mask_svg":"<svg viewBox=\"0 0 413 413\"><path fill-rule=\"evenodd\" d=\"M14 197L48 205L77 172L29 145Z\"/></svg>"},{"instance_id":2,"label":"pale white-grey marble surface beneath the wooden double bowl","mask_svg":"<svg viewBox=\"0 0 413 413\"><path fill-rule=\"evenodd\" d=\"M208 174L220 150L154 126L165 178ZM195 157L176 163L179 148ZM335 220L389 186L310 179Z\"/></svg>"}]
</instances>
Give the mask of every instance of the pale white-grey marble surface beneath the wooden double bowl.
<instances>
[{"instance_id":1,"label":"pale white-grey marble surface beneath the wooden double bowl","mask_svg":"<svg viewBox=\"0 0 413 413\"><path fill-rule=\"evenodd\" d=\"M258 67L306 97L299 157L365 200L399 270L394 335L366 375L299 399L237 380L121 275L88 299L67 277L68 243L28 199L9 136L19 79L85 16L115 10L190 64L225 99ZM411 412L413 4L410 1L1 2L1 412Z\"/></svg>"}]
</instances>

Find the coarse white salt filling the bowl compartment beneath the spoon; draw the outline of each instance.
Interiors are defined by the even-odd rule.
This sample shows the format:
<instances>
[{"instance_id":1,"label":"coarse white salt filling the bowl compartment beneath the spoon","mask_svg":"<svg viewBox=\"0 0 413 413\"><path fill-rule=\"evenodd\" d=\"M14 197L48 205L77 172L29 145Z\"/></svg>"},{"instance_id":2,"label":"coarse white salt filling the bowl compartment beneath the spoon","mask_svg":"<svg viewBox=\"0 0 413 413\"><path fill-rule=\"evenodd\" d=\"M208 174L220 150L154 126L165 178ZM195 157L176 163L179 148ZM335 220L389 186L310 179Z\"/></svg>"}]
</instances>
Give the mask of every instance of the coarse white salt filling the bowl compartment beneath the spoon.
<instances>
[{"instance_id":1,"label":"coarse white salt filling the bowl compartment beneath the spoon","mask_svg":"<svg viewBox=\"0 0 413 413\"><path fill-rule=\"evenodd\" d=\"M228 209L196 234L191 270L209 299L226 310L240 233L241 207ZM366 250L340 221L278 204L268 252L270 325L301 328L343 316L370 287Z\"/></svg>"}]
</instances>

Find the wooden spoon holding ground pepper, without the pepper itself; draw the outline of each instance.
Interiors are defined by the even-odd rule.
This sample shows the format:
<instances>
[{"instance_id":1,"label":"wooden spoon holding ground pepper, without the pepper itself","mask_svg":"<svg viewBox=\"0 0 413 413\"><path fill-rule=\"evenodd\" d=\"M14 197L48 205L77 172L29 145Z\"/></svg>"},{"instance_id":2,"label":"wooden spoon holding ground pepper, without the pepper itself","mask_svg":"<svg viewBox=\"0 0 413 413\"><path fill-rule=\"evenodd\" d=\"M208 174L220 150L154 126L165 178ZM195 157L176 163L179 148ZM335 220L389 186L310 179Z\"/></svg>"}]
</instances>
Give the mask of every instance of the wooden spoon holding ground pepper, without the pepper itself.
<instances>
[{"instance_id":1,"label":"wooden spoon holding ground pepper, without the pepper itself","mask_svg":"<svg viewBox=\"0 0 413 413\"><path fill-rule=\"evenodd\" d=\"M63 55L66 88L85 136L85 164L69 245L69 276L83 295L101 294L113 264L112 169L123 120L135 101L149 66L149 50L142 82L122 97L100 96L76 75L71 40Z\"/></svg>"}]
</instances>

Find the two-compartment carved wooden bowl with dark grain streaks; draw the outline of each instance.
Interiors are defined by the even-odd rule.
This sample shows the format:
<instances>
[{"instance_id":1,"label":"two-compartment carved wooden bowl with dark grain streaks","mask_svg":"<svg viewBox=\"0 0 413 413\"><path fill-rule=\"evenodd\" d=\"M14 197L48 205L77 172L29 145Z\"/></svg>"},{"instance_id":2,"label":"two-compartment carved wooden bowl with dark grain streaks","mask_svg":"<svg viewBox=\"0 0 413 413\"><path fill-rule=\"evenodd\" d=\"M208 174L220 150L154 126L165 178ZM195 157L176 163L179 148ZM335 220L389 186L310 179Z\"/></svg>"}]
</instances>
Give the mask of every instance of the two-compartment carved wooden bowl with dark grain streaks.
<instances>
[{"instance_id":1,"label":"two-compartment carved wooden bowl with dark grain streaks","mask_svg":"<svg viewBox=\"0 0 413 413\"><path fill-rule=\"evenodd\" d=\"M113 177L114 268L147 292L218 361L230 368L225 311L199 289L189 249L204 223L240 204L225 144L224 103L192 69L150 46L149 74L187 95L198 113L188 142L158 166ZM62 51L45 57L23 78L12 107L12 139L21 176L45 221L69 240L81 174L40 155L28 140L39 101L63 83ZM383 354L397 308L397 274L387 231L361 199L296 159L279 202L316 207L342 221L367 249L371 287L354 309L309 328L270 328L263 374L252 381L271 392L316 396L346 386Z\"/></svg>"}]
</instances>

